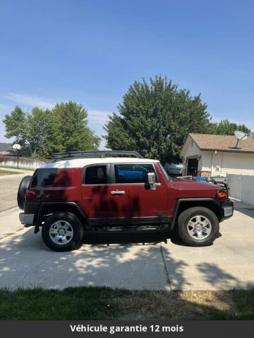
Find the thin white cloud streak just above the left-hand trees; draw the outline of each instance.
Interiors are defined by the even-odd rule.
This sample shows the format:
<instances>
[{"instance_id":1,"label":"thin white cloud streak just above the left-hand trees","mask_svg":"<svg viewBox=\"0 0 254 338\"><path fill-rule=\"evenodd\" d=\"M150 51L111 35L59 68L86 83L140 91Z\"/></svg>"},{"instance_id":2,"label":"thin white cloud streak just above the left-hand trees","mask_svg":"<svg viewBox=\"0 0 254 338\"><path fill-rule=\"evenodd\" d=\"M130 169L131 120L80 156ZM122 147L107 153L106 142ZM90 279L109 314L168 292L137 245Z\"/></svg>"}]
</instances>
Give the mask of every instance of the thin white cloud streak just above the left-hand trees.
<instances>
[{"instance_id":1,"label":"thin white cloud streak just above the left-hand trees","mask_svg":"<svg viewBox=\"0 0 254 338\"><path fill-rule=\"evenodd\" d=\"M53 101L52 99L18 93L8 93L4 96L4 98L16 102L16 104L25 104L26 106L31 107L38 106L40 108L53 108L56 104L56 101Z\"/></svg>"}]
</instances>

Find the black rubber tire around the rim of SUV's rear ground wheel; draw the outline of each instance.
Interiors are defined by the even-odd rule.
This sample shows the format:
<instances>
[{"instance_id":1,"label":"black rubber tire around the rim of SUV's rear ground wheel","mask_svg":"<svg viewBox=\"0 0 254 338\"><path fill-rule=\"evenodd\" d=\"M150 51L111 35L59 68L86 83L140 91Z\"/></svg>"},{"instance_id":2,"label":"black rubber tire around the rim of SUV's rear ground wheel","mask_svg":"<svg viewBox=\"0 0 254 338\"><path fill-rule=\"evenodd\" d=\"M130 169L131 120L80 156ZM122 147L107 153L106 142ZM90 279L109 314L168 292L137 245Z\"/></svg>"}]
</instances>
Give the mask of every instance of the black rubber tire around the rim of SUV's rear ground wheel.
<instances>
[{"instance_id":1,"label":"black rubber tire around the rim of SUV's rear ground wheel","mask_svg":"<svg viewBox=\"0 0 254 338\"><path fill-rule=\"evenodd\" d=\"M52 239L52 237L54 237L54 234L50 234L50 231L54 231L52 227L54 227L54 224L57 221L63 221L61 222L61 224L67 222L69 225L71 225L69 230L71 230L71 228L73 230L73 237L71 239L70 237L68 237L69 242L66 244L63 244L63 242L61 242L61 239L59 240L59 244L57 244ZM61 237L61 234L56 234L55 236L59 235ZM45 220L45 223L42 225L42 239L43 242L49 247L49 249L52 249L54 251L71 251L78 249L80 248L81 241L83 239L83 225L73 213L69 213L68 211L53 213L53 215L49 216Z\"/></svg>"}]
</instances>

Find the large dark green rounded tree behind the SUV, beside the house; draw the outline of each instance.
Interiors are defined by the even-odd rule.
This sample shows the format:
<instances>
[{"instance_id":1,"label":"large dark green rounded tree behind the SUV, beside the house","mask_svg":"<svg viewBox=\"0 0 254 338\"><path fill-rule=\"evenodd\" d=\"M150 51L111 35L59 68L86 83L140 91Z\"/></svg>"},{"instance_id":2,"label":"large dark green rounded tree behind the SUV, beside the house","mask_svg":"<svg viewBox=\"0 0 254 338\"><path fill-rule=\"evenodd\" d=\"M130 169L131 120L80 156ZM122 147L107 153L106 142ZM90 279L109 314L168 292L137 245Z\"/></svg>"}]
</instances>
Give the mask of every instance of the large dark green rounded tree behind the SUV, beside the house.
<instances>
[{"instance_id":1,"label":"large dark green rounded tree behind the SUV, beside the house","mask_svg":"<svg viewBox=\"0 0 254 338\"><path fill-rule=\"evenodd\" d=\"M179 162L188 132L206 132L207 106L198 96L160 76L148 84L135 81L104 126L107 147L135 150L146 158Z\"/></svg>"}]
</instances>

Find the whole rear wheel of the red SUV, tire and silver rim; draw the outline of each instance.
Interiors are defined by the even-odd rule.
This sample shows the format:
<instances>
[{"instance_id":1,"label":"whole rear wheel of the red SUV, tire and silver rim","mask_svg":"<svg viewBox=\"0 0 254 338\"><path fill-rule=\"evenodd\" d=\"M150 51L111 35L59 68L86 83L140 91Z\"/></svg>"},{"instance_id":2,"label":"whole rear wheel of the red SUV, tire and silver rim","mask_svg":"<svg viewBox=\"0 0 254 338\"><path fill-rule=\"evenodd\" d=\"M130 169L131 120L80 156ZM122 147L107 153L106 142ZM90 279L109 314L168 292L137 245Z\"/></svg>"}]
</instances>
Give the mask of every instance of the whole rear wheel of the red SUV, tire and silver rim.
<instances>
[{"instance_id":1,"label":"whole rear wheel of the red SUV, tire and silver rim","mask_svg":"<svg viewBox=\"0 0 254 338\"><path fill-rule=\"evenodd\" d=\"M78 249L82 238L83 225L73 213L53 213L42 226L42 239L54 251Z\"/></svg>"}]
</instances>

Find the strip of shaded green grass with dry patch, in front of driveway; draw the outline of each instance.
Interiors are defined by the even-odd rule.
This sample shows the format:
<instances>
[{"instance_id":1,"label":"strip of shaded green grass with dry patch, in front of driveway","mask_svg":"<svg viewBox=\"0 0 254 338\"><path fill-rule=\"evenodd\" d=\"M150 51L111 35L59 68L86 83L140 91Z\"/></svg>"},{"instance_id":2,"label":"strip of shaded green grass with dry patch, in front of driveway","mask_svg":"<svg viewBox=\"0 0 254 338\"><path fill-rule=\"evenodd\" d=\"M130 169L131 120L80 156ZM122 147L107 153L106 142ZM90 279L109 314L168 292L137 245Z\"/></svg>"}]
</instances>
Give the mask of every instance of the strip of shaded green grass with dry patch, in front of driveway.
<instances>
[{"instance_id":1,"label":"strip of shaded green grass with dry patch, in front of driveway","mask_svg":"<svg viewBox=\"0 0 254 338\"><path fill-rule=\"evenodd\" d=\"M253 320L254 290L0 289L0 320Z\"/></svg>"}]
</instances>

